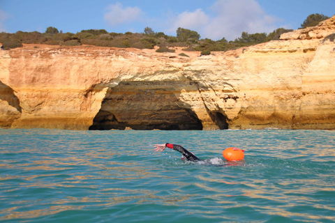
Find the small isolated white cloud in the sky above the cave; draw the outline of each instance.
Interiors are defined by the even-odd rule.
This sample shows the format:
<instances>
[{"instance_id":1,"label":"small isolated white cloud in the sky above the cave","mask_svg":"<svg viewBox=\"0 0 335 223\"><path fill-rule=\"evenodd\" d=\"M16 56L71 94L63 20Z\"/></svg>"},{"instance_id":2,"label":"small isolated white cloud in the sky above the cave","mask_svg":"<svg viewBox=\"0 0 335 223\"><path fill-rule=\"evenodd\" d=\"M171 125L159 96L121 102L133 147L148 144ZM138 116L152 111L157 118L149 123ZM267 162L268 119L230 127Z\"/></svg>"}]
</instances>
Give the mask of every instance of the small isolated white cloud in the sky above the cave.
<instances>
[{"instance_id":1,"label":"small isolated white cloud in the sky above the cave","mask_svg":"<svg viewBox=\"0 0 335 223\"><path fill-rule=\"evenodd\" d=\"M104 14L104 20L111 26L136 22L140 20L142 10L138 7L124 8L121 3L116 3L107 7L107 12Z\"/></svg>"}]
</instances>

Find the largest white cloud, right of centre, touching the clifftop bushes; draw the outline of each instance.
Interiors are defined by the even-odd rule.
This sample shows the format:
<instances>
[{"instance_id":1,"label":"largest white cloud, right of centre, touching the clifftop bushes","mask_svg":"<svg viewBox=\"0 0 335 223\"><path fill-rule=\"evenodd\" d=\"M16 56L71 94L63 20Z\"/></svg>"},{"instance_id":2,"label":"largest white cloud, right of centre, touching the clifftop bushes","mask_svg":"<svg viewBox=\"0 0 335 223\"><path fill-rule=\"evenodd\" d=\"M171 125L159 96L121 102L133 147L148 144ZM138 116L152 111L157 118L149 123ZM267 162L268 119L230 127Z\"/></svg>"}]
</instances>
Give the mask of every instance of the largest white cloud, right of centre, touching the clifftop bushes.
<instances>
[{"instance_id":1,"label":"largest white cloud, right of centre, touching the clifftop bushes","mask_svg":"<svg viewBox=\"0 0 335 223\"><path fill-rule=\"evenodd\" d=\"M185 11L169 21L168 33L180 26L198 31L202 38L219 40L225 37L234 40L242 31L248 33L269 33L274 31L278 18L267 15L255 0L218 0L211 6L211 14L202 9L191 13Z\"/></svg>"}]
</instances>

